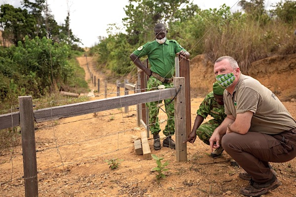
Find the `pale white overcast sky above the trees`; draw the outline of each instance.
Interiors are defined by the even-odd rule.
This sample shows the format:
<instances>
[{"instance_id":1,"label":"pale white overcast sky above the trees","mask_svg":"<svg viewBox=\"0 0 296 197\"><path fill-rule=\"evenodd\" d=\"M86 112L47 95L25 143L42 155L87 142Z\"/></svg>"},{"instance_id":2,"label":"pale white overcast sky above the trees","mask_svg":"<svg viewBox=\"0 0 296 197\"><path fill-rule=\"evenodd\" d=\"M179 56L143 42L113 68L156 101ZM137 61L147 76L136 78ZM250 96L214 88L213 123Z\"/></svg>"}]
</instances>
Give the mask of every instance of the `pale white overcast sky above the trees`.
<instances>
[{"instance_id":1,"label":"pale white overcast sky above the trees","mask_svg":"<svg viewBox=\"0 0 296 197\"><path fill-rule=\"evenodd\" d=\"M0 4L9 3L20 7L21 0L0 0ZM31 0L33 1L33 0ZM265 8L275 5L280 0L265 0ZM84 45L91 47L98 42L98 36L107 36L108 24L116 23L122 27L123 8L128 0L47 0L51 14L59 25L65 23L67 2L70 8L70 28ZM190 0L192 2L192 0ZM239 9L238 0L193 0L201 9L219 8L223 3L232 7L232 12Z\"/></svg>"}]
</instances>

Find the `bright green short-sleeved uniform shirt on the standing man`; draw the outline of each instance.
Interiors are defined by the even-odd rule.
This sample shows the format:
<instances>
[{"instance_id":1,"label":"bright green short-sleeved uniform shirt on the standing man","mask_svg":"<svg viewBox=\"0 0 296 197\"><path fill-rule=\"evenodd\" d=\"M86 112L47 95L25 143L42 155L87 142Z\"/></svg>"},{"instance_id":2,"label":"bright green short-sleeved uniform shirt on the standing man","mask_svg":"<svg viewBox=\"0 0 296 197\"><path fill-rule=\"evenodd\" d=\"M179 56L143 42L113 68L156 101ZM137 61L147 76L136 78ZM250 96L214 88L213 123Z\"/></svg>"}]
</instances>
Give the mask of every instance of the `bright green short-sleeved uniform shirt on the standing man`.
<instances>
[{"instance_id":1,"label":"bright green short-sleeved uniform shirt on the standing man","mask_svg":"<svg viewBox=\"0 0 296 197\"><path fill-rule=\"evenodd\" d=\"M150 70L164 78L171 78L175 73L175 56L181 50L186 51L176 40L166 40L159 44L155 40L147 42L133 52L139 58L148 56Z\"/></svg>"}]
</instances>

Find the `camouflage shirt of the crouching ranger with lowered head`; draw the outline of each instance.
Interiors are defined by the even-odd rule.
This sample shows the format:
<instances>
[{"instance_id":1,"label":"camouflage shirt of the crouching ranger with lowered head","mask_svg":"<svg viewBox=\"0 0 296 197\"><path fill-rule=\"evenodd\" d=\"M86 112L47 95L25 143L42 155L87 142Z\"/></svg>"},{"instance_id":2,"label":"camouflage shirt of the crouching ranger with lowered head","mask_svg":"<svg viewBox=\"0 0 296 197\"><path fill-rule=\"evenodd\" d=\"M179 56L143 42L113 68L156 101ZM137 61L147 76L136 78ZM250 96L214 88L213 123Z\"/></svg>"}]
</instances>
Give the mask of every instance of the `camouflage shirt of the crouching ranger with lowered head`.
<instances>
[{"instance_id":1,"label":"camouflage shirt of the crouching ranger with lowered head","mask_svg":"<svg viewBox=\"0 0 296 197\"><path fill-rule=\"evenodd\" d=\"M224 105L220 105L214 97L213 91L207 94L205 99L199 105L197 115L207 118L208 115L212 116L218 123L222 123L226 118L224 113Z\"/></svg>"}]
</instances>

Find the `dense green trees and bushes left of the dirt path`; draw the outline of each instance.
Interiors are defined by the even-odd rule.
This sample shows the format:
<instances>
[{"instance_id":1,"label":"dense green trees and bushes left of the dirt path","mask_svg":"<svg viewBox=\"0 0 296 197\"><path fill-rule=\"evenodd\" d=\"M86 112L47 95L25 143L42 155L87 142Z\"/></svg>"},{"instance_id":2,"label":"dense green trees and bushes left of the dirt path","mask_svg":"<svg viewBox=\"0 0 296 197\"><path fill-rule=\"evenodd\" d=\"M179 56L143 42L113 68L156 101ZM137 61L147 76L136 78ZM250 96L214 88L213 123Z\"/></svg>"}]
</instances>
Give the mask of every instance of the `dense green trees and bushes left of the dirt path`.
<instances>
[{"instance_id":1,"label":"dense green trees and bushes left of the dirt path","mask_svg":"<svg viewBox=\"0 0 296 197\"><path fill-rule=\"evenodd\" d=\"M58 90L87 89L84 71L73 61L84 50L70 28L70 12L58 25L46 0L22 5L0 6L0 108L17 104L18 96L50 99Z\"/></svg>"}]
</instances>

